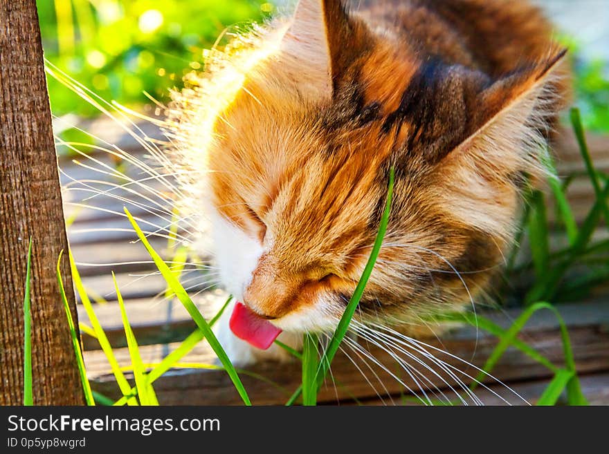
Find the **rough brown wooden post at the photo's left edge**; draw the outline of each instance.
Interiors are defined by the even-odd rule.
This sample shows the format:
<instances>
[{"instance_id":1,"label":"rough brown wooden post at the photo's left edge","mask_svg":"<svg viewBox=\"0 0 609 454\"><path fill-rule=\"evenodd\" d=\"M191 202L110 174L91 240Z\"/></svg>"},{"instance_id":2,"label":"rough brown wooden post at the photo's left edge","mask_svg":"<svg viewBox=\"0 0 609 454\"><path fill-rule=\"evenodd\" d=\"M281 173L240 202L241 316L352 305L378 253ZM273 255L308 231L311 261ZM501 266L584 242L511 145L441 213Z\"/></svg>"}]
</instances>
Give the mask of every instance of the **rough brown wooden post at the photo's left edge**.
<instances>
[{"instance_id":1,"label":"rough brown wooden post at the photo's left edge","mask_svg":"<svg viewBox=\"0 0 609 454\"><path fill-rule=\"evenodd\" d=\"M36 1L0 0L0 405L23 403L30 236L34 404L84 404L55 276L68 242ZM62 276L76 317L66 255Z\"/></svg>"}]
</instances>

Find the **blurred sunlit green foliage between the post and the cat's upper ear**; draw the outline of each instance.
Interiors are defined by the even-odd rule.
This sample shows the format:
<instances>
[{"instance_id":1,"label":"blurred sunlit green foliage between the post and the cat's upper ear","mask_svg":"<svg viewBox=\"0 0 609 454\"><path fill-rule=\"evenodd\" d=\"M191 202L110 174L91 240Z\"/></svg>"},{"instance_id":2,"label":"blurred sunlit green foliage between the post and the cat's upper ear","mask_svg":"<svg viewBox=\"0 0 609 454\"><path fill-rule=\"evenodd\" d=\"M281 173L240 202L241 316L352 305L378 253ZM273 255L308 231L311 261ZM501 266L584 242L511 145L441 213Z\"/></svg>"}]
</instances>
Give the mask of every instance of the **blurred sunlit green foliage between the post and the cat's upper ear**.
<instances>
[{"instance_id":1,"label":"blurred sunlit green foliage between the post and the cat's upper ear","mask_svg":"<svg viewBox=\"0 0 609 454\"><path fill-rule=\"evenodd\" d=\"M46 58L105 100L158 100L199 69L227 26L260 21L264 0L37 0ZM48 78L55 115L98 110Z\"/></svg>"}]
</instances>

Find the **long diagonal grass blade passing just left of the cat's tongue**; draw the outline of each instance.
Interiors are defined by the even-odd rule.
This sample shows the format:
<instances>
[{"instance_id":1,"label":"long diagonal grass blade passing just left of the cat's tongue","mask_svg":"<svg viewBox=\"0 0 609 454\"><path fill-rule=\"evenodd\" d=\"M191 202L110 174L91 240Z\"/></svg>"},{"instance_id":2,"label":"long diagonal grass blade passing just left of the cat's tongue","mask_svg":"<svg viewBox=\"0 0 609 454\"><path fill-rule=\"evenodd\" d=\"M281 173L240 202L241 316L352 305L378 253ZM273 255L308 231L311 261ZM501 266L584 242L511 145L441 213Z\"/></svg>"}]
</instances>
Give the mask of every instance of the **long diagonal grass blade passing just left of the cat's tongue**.
<instances>
[{"instance_id":1,"label":"long diagonal grass blade passing just left of the cat's tongue","mask_svg":"<svg viewBox=\"0 0 609 454\"><path fill-rule=\"evenodd\" d=\"M226 372L228 373L230 379L233 381L233 385L235 385L235 389L237 389L237 392L239 392L239 395L243 399L244 404L251 405L250 398L247 395L247 392L242 384L241 379L239 379L239 375L237 374L235 367L232 363L230 363L230 359L228 359L228 356L226 356L224 348L222 348L218 339L216 339L216 336L210 329L206 319L203 318L201 312L199 312L199 310L197 309L197 306L192 303L190 296L188 296L188 293L184 290L184 287L182 287L181 283L172 273L171 269L167 267L161 256L159 256L152 248L143 231L140 229L140 227L136 223L136 220L134 220L133 216L131 216L131 213L129 213L129 210L127 208L125 208L125 214L127 214L127 218L129 218L131 225L136 231L136 234L138 234L138 238L140 238L141 242L146 247L148 254L150 254L150 256L152 257L152 260L156 264L158 270L163 275L163 278L165 278L167 284L171 287L174 294L176 294L177 299L179 299L184 305L185 309L188 311L188 313L194 320L194 323L197 323L199 329L203 332L203 334L205 334L205 337L211 348L214 350L215 354L217 354L217 357L224 366L224 368L226 368Z\"/></svg>"}]
</instances>

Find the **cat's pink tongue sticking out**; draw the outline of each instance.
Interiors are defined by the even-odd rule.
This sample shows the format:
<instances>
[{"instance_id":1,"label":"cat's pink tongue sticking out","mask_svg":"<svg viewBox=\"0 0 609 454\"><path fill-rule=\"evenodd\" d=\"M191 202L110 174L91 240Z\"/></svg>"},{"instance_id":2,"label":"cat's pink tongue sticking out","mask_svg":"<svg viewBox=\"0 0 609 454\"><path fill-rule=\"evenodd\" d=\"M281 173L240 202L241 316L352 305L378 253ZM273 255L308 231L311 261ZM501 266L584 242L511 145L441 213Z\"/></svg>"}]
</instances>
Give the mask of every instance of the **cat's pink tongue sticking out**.
<instances>
[{"instance_id":1,"label":"cat's pink tongue sticking out","mask_svg":"<svg viewBox=\"0 0 609 454\"><path fill-rule=\"evenodd\" d=\"M262 350L269 348L281 332L280 328L277 328L270 321L262 319L239 301L235 304L228 325L239 339L243 339Z\"/></svg>"}]
</instances>

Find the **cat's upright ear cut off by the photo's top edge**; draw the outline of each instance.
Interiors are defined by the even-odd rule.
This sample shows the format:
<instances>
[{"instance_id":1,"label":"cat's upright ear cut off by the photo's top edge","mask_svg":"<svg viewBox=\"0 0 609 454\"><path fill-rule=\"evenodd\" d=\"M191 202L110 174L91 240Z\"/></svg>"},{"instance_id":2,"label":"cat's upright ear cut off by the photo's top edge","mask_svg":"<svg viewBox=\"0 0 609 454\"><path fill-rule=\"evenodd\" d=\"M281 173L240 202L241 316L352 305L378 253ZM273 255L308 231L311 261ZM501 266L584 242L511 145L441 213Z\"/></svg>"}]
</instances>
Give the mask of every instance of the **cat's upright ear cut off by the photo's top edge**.
<instances>
[{"instance_id":1,"label":"cat's upright ear cut off by the photo's top edge","mask_svg":"<svg viewBox=\"0 0 609 454\"><path fill-rule=\"evenodd\" d=\"M300 0L281 43L282 71L299 90L329 99L352 59L361 53L365 27L340 0Z\"/></svg>"}]
</instances>

